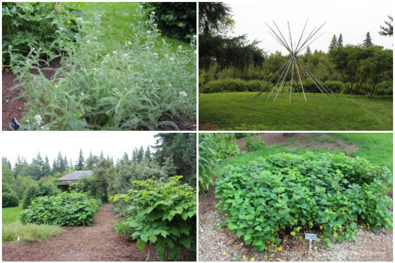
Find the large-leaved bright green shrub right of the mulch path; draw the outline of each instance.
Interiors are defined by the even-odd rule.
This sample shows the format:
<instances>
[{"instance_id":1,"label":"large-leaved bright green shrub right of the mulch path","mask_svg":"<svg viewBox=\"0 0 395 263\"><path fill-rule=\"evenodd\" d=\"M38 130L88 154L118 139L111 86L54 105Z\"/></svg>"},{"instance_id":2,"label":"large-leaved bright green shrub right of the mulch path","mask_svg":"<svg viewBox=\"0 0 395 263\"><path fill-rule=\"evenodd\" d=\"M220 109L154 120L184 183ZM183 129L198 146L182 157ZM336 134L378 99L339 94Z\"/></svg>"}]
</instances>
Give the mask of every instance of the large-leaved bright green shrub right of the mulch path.
<instances>
[{"instance_id":1,"label":"large-leaved bright green shrub right of the mulch path","mask_svg":"<svg viewBox=\"0 0 395 263\"><path fill-rule=\"evenodd\" d=\"M196 190L180 185L180 178L158 184L153 179L135 181L135 189L111 197L114 202L121 198L132 201L127 208L132 216L115 224L118 234L137 240L141 250L146 243L155 244L160 261L167 255L177 260L178 249L191 249L192 259L196 255Z\"/></svg>"}]
</instances>

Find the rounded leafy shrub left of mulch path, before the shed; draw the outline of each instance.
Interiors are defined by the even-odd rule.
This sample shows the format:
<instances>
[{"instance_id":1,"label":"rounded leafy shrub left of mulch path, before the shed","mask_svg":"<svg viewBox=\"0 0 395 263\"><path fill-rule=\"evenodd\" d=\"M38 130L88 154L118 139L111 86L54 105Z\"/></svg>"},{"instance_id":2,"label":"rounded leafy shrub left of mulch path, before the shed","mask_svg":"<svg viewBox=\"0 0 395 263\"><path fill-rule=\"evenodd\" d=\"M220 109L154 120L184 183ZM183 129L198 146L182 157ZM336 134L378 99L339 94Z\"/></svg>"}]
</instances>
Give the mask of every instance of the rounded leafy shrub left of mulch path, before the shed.
<instances>
[{"instance_id":1,"label":"rounded leafy shrub left of mulch path, before the shed","mask_svg":"<svg viewBox=\"0 0 395 263\"><path fill-rule=\"evenodd\" d=\"M86 194L62 192L35 199L19 218L24 224L91 225L97 210L95 200Z\"/></svg>"}]
</instances>

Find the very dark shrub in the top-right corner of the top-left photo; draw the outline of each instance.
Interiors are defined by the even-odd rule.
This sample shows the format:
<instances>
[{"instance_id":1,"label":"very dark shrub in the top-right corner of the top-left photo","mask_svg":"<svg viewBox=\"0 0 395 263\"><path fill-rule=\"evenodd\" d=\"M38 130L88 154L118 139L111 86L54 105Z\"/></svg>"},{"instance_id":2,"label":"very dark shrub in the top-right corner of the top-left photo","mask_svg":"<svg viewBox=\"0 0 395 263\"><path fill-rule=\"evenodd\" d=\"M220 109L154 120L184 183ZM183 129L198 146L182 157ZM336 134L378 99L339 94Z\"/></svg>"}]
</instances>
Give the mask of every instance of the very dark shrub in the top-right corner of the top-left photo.
<instances>
[{"instance_id":1,"label":"very dark shrub in the top-right corner of the top-left photo","mask_svg":"<svg viewBox=\"0 0 395 263\"><path fill-rule=\"evenodd\" d=\"M196 2L144 2L158 18L163 29L174 38L191 39L196 35Z\"/></svg>"}]
</instances>

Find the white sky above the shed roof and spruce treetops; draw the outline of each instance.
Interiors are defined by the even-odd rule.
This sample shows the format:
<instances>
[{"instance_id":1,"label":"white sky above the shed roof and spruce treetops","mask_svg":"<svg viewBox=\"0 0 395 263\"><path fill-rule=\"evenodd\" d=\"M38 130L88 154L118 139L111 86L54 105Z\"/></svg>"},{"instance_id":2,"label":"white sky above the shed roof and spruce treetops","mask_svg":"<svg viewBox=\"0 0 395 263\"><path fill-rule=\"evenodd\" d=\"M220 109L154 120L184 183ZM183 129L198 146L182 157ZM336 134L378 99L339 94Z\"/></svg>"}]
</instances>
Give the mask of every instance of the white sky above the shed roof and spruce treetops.
<instances>
[{"instance_id":1,"label":"white sky above the shed roof and spruce treetops","mask_svg":"<svg viewBox=\"0 0 395 263\"><path fill-rule=\"evenodd\" d=\"M57 157L59 151L63 157L67 156L68 161L72 158L75 163L79 156L79 149L82 149L85 159L89 156L90 151L93 155L100 155L100 151L103 150L105 157L107 154L110 158L113 156L113 160L116 162L117 158L120 159L125 151L130 158L135 147L143 146L145 150L147 146L155 145L155 134L158 132L7 132L2 136L1 155L7 157L13 166L18 154L31 163L32 158L36 157L40 151L43 160L45 155L48 156L49 164L52 167L52 161Z\"/></svg>"}]
</instances>

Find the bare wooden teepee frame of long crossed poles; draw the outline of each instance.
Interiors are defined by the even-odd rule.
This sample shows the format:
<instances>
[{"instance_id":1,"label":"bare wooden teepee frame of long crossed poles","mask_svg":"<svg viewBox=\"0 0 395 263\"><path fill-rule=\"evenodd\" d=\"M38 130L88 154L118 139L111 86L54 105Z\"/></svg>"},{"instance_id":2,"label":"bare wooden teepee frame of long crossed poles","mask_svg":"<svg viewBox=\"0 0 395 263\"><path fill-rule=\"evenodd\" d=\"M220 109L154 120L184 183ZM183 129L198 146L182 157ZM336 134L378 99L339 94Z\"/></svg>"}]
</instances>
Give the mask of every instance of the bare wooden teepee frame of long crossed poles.
<instances>
[{"instance_id":1,"label":"bare wooden teepee frame of long crossed poles","mask_svg":"<svg viewBox=\"0 0 395 263\"><path fill-rule=\"evenodd\" d=\"M288 42L285 40L284 36L281 34L281 31L278 29L276 22L273 21L274 25L276 26L276 29L279 33L279 35L281 36L281 38L278 36L278 34L265 22L265 24L269 27L269 29L272 31L272 34L270 31L269 34L272 35L273 38L275 38L283 47L285 47L289 53L291 54L291 57L288 59L288 61L275 73L275 75L273 75L268 82L265 84L265 86L263 86L263 88L261 88L261 90L255 95L254 99L256 97L258 97L259 95L262 94L262 92L264 92L264 90L266 88L268 88L270 86L270 84L273 84L273 88L269 93L269 90L267 91L266 94L269 93L269 96L266 100L269 100L270 96L272 95L273 91L276 89L276 86L278 84L278 82L281 80L280 85L278 86L277 89L277 93L276 93L276 97L274 99L273 102L276 101L278 94L280 93L281 90L281 94L284 90L285 84L284 84L284 80L285 77L287 76L289 69L291 69L290 74L291 74L291 87L289 90L289 102L291 102L291 97L292 97L292 82L293 82L293 75L294 75L294 71L296 71L296 73L298 74L299 77L299 82L300 82L300 86L302 87L302 92L303 92L303 97L306 100L306 94L305 94L305 90L303 88L303 84L302 84L302 78L301 75L305 78L306 82L307 79L310 78L313 83L316 85L316 87L318 88L318 90L322 93L322 95L324 95L324 97L326 99L328 99L328 96L331 97L331 93L334 94L335 96L337 96L334 92L332 92L330 90L330 88L328 88L327 86L325 86L323 84L322 81L320 81L297 57L297 55L304 50L306 47L308 47L311 43L313 43L317 38L321 37L323 34L319 35L318 37L316 37L315 39L313 39L312 41L310 41L315 35L316 33L325 25L325 23L323 23L318 29L316 29L316 27L312 30L312 32L304 39L303 38L303 34L305 33L305 29L306 29L306 25L307 25L307 21L309 20L309 18L306 20L305 26L303 27L302 30L302 34L300 35L299 41L296 44L292 43L292 37L291 37L291 29L289 27L289 22L287 22L288 24L288 32L289 32L289 42L290 45L288 44ZM310 42L309 42L310 41ZM296 74L295 74L295 78L296 78ZM284 86L283 86L284 84ZM298 84L298 81L296 80L296 84ZM282 89L281 89L282 88Z\"/></svg>"}]
</instances>

